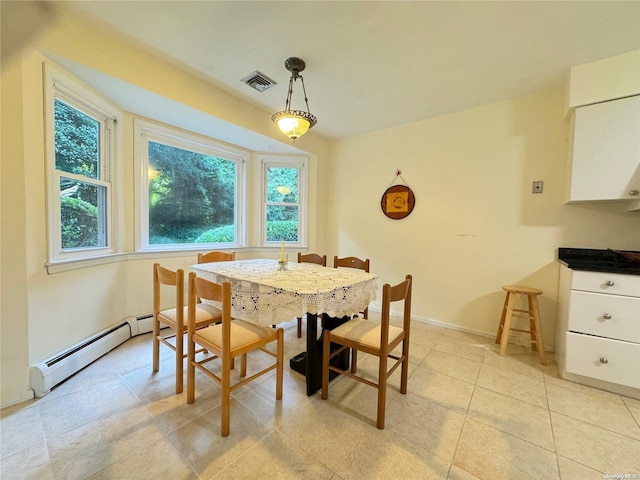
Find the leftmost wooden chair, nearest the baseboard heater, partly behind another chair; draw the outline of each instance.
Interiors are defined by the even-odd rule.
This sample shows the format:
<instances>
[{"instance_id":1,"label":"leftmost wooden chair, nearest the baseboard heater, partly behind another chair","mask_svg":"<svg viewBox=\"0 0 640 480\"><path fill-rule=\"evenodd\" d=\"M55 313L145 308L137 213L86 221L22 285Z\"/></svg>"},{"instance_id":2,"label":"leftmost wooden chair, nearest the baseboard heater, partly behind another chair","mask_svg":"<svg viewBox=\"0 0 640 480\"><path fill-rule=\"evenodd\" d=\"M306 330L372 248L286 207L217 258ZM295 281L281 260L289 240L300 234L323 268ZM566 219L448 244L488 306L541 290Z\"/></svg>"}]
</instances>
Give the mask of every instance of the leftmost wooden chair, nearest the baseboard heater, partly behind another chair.
<instances>
[{"instance_id":1,"label":"leftmost wooden chair, nearest the baseboard heater, partly behind another chair","mask_svg":"<svg viewBox=\"0 0 640 480\"><path fill-rule=\"evenodd\" d=\"M173 287L175 301L173 306L162 309L162 293L165 287ZM167 292L168 293L168 292ZM222 321L222 312L211 305L198 305L196 309L196 325L198 328ZM184 359L184 332L187 330L185 319L187 305L184 302L184 270L169 270L153 264L153 371L160 369L160 343L165 344L176 354L176 393L182 392ZM161 335L161 324L171 328L172 333ZM171 343L171 339L174 343Z\"/></svg>"}]
</instances>

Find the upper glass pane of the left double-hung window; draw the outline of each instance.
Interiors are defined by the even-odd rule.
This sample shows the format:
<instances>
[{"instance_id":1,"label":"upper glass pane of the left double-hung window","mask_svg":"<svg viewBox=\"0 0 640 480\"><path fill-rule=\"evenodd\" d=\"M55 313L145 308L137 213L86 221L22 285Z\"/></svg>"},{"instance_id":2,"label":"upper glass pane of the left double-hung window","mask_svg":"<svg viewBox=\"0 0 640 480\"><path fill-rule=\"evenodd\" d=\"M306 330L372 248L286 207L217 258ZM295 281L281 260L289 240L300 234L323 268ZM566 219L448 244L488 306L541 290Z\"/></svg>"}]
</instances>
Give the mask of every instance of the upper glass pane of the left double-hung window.
<instances>
[{"instance_id":1,"label":"upper glass pane of the left double-hung window","mask_svg":"<svg viewBox=\"0 0 640 480\"><path fill-rule=\"evenodd\" d=\"M56 169L89 178L100 178L100 123L55 100Z\"/></svg>"}]
</instances>

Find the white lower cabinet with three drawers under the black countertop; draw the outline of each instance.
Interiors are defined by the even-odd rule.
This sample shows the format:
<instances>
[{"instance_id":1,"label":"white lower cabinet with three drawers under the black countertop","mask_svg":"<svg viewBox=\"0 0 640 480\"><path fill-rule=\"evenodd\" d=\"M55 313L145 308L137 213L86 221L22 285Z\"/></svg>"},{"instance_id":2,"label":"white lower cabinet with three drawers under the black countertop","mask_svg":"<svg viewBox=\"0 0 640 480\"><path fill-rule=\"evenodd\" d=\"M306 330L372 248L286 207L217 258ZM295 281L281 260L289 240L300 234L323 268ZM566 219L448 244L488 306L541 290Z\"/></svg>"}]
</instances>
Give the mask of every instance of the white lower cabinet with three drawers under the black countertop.
<instances>
[{"instance_id":1,"label":"white lower cabinet with three drawers under the black countertop","mask_svg":"<svg viewBox=\"0 0 640 480\"><path fill-rule=\"evenodd\" d=\"M560 267L560 376L640 398L640 275Z\"/></svg>"}]
</instances>

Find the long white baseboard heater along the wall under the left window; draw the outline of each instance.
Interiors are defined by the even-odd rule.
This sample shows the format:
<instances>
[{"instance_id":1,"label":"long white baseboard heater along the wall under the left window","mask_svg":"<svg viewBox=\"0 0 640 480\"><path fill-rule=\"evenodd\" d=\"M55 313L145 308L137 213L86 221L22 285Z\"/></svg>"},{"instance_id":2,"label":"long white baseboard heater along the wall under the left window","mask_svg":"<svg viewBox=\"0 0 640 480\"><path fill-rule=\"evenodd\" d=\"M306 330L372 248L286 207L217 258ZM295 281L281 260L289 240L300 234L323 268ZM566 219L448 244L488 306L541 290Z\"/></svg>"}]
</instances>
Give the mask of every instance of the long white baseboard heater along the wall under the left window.
<instances>
[{"instance_id":1,"label":"long white baseboard heater along the wall under the left window","mask_svg":"<svg viewBox=\"0 0 640 480\"><path fill-rule=\"evenodd\" d=\"M36 397L44 397L56 385L90 363L109 353L131 337L151 331L153 315L131 317L121 324L104 330L86 340L32 365L29 371L31 388ZM143 327L143 328L141 328Z\"/></svg>"}]
</instances>

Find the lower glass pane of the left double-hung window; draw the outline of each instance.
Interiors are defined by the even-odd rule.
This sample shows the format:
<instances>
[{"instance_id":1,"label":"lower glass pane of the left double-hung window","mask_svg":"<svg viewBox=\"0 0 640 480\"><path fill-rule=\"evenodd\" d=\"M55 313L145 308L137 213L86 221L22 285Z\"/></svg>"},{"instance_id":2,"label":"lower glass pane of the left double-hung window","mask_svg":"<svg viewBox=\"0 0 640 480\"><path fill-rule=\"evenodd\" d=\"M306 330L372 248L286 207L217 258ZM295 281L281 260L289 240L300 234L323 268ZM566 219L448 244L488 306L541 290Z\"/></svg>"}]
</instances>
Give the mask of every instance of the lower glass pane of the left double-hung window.
<instances>
[{"instance_id":1,"label":"lower glass pane of the left double-hung window","mask_svg":"<svg viewBox=\"0 0 640 480\"><path fill-rule=\"evenodd\" d=\"M105 247L106 187L60 178L62 248Z\"/></svg>"}]
</instances>

